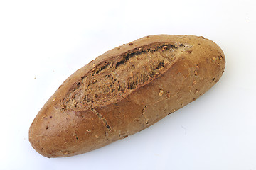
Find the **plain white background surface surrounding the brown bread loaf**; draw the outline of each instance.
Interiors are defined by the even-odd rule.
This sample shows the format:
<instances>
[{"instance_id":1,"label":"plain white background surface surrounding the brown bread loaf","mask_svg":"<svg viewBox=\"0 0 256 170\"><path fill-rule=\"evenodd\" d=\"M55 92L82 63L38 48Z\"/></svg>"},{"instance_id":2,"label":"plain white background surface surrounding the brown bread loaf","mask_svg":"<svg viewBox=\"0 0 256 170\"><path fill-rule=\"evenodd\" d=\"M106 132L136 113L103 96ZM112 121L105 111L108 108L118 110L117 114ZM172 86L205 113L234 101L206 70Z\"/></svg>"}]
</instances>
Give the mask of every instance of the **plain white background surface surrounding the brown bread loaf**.
<instances>
[{"instance_id":1,"label":"plain white background surface surrounding the brown bread loaf","mask_svg":"<svg viewBox=\"0 0 256 170\"><path fill-rule=\"evenodd\" d=\"M256 1L0 1L0 169L256 169ZM225 52L218 84L135 135L48 159L28 142L75 70L154 34L203 35Z\"/></svg>"}]
</instances>

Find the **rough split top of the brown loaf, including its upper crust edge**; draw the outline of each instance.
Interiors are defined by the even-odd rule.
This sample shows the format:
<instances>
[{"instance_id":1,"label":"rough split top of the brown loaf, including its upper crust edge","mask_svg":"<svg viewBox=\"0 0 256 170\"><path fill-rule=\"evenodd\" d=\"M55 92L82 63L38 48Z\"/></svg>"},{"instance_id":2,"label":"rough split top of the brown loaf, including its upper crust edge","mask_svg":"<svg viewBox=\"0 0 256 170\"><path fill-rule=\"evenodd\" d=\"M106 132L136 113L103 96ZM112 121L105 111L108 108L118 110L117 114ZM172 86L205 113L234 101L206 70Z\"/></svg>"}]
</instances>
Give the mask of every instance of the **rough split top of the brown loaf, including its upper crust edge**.
<instances>
[{"instance_id":1,"label":"rough split top of the brown loaf, including its upper crust edge","mask_svg":"<svg viewBox=\"0 0 256 170\"><path fill-rule=\"evenodd\" d=\"M210 41L193 35L151 35L116 47L78 69L50 101L71 111L117 103L164 74L182 53L192 52L195 40Z\"/></svg>"}]
</instances>

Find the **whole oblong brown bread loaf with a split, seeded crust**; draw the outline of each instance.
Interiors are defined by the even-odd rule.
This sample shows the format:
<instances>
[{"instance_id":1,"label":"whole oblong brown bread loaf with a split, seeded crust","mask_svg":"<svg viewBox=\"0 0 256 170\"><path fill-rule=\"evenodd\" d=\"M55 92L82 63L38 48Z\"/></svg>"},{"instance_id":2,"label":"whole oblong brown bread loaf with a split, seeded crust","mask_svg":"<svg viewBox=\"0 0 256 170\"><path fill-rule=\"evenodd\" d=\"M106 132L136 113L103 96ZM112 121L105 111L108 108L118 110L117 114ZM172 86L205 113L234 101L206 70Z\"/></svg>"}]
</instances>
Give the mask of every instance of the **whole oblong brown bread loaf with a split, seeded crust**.
<instances>
[{"instance_id":1,"label":"whole oblong brown bread loaf with a split, seeded crust","mask_svg":"<svg viewBox=\"0 0 256 170\"><path fill-rule=\"evenodd\" d=\"M108 145L195 101L224 68L220 47L193 35L151 35L116 47L63 82L33 120L29 140L45 157Z\"/></svg>"}]
</instances>

